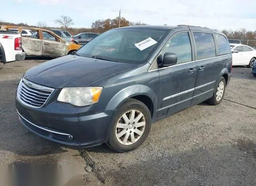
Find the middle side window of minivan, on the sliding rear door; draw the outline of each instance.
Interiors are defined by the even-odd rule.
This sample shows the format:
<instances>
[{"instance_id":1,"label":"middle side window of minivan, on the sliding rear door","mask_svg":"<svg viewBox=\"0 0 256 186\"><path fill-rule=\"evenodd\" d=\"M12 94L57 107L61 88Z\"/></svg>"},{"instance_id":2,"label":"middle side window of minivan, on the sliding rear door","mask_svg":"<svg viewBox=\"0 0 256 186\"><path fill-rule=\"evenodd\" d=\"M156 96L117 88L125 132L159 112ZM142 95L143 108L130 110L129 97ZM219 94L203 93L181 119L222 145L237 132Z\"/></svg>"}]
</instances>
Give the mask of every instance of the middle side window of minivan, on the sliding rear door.
<instances>
[{"instance_id":1,"label":"middle side window of minivan, on the sliding rear door","mask_svg":"<svg viewBox=\"0 0 256 186\"><path fill-rule=\"evenodd\" d=\"M196 40L196 59L206 59L216 56L216 49L212 34L194 32Z\"/></svg>"}]
</instances>

